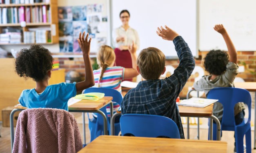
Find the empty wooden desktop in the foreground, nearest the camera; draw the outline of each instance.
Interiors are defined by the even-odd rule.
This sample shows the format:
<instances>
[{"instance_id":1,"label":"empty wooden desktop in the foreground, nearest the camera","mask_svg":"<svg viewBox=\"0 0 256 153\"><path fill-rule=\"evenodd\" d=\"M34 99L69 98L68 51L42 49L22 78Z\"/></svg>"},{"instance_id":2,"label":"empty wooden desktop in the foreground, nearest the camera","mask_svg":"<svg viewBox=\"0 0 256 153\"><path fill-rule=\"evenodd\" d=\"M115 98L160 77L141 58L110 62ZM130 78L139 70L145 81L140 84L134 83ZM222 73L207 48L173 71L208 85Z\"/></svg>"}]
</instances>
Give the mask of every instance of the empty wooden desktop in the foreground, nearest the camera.
<instances>
[{"instance_id":1,"label":"empty wooden desktop in the foreground, nearest the camera","mask_svg":"<svg viewBox=\"0 0 256 153\"><path fill-rule=\"evenodd\" d=\"M226 153L227 142L144 138L129 136L99 136L78 153Z\"/></svg>"}]
</instances>

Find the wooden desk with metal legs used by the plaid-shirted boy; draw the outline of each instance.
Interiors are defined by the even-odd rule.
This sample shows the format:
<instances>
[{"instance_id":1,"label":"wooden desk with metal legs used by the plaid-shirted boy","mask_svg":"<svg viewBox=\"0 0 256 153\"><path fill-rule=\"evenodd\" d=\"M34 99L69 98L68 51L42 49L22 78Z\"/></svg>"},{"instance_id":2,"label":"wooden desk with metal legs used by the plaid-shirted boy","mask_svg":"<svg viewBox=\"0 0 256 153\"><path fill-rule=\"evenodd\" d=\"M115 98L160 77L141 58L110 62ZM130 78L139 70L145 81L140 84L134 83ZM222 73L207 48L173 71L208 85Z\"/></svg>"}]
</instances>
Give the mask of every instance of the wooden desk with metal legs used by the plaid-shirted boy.
<instances>
[{"instance_id":1,"label":"wooden desk with metal legs used by the plaid-shirted boy","mask_svg":"<svg viewBox=\"0 0 256 153\"><path fill-rule=\"evenodd\" d=\"M210 118L210 140L212 140L212 124L213 124L213 120L215 120L216 124L217 124L217 140L220 140L220 121L218 120L218 118L216 118L215 116L213 116L212 114L212 108L213 108L214 104L211 104L207 107L204 108L200 108L200 107L187 107L187 106L179 106L179 112L180 112L180 116L184 116L184 117L198 117L198 118ZM111 135L114 135L114 131L115 131L115 126L114 126L114 120L116 118L116 116L121 115L121 111L118 110L111 118L111 122L110 122L110 128L111 128ZM188 127L188 139L189 139L189 127Z\"/></svg>"}]
</instances>

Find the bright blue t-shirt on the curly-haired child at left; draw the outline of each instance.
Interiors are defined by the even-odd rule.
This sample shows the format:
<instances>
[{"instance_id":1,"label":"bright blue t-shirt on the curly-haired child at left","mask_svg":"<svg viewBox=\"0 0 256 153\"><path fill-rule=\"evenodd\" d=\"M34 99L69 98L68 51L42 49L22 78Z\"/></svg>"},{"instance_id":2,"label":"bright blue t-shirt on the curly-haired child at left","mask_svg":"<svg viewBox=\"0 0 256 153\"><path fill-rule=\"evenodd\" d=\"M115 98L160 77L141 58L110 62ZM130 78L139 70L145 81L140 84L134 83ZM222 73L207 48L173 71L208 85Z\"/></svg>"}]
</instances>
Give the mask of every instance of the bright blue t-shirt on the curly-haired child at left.
<instances>
[{"instance_id":1,"label":"bright blue t-shirt on the curly-haired child at left","mask_svg":"<svg viewBox=\"0 0 256 153\"><path fill-rule=\"evenodd\" d=\"M48 85L38 94L34 89L23 90L19 102L27 108L58 108L68 111L67 101L76 96L76 82Z\"/></svg>"}]
</instances>

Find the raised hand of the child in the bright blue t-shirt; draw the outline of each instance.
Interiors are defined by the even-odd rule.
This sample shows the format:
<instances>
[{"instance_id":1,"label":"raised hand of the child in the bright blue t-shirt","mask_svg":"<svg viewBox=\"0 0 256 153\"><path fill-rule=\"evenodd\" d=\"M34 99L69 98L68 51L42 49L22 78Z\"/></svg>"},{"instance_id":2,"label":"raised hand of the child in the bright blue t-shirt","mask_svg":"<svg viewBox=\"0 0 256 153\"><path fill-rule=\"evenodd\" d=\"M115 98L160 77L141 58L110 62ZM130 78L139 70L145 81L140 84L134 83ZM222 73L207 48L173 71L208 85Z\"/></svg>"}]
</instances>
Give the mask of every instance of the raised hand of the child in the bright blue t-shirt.
<instances>
[{"instance_id":1,"label":"raised hand of the child in the bright blue t-shirt","mask_svg":"<svg viewBox=\"0 0 256 153\"><path fill-rule=\"evenodd\" d=\"M91 38L88 41L89 33L87 33L85 37L85 31L81 34L79 33L79 38L77 39L78 44L82 50L83 54L88 54L90 53L90 46L91 46Z\"/></svg>"}]
</instances>

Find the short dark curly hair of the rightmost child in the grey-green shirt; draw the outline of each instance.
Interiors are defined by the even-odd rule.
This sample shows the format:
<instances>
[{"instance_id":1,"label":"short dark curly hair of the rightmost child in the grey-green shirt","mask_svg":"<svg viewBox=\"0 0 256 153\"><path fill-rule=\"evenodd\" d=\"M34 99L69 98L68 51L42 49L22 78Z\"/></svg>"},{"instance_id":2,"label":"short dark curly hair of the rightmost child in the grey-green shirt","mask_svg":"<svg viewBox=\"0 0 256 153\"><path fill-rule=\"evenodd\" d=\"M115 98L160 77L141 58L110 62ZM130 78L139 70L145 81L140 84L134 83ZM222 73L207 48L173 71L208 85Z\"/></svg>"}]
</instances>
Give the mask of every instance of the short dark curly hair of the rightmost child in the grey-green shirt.
<instances>
[{"instance_id":1,"label":"short dark curly hair of the rightmost child in the grey-green shirt","mask_svg":"<svg viewBox=\"0 0 256 153\"><path fill-rule=\"evenodd\" d=\"M210 74L220 75L226 70L229 55L222 50L211 50L204 58L204 67Z\"/></svg>"}]
</instances>

